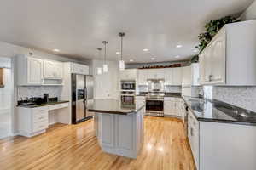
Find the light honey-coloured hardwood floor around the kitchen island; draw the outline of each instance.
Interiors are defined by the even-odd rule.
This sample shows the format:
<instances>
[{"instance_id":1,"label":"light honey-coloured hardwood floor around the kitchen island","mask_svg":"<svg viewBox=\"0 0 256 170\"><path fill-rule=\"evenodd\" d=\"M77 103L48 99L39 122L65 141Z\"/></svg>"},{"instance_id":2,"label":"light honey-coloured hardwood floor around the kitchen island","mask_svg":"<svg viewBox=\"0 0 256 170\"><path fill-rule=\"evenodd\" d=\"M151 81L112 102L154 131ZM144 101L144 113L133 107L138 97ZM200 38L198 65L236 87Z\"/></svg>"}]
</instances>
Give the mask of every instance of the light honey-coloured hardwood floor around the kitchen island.
<instances>
[{"instance_id":1,"label":"light honey-coloured hardwood floor around the kitchen island","mask_svg":"<svg viewBox=\"0 0 256 170\"><path fill-rule=\"evenodd\" d=\"M103 153L90 120L55 124L31 139L0 140L0 169L193 170L195 164L181 121L145 116L143 150L136 160Z\"/></svg>"}]
</instances>

